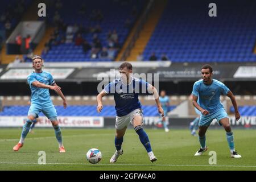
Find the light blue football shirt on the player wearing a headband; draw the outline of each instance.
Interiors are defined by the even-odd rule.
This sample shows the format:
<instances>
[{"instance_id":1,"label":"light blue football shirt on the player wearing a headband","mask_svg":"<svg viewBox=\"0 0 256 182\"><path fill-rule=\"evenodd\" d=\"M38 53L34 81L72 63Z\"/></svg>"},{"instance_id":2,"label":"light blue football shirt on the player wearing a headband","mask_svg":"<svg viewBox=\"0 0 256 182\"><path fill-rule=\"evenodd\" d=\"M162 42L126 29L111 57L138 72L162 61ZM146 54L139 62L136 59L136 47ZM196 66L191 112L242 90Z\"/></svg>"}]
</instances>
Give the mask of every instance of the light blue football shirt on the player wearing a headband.
<instances>
[{"instance_id":1,"label":"light blue football shirt on the player wearing a headband","mask_svg":"<svg viewBox=\"0 0 256 182\"><path fill-rule=\"evenodd\" d=\"M42 73L30 73L30 75L27 76L27 82L30 85L31 90L31 104L44 104L51 101L51 96L49 94L49 89L44 88L38 88L36 86L32 85L32 82L39 81L42 84L46 85L52 85L55 83L53 80L53 77L51 73L48 72L42 72Z\"/></svg>"}]
</instances>

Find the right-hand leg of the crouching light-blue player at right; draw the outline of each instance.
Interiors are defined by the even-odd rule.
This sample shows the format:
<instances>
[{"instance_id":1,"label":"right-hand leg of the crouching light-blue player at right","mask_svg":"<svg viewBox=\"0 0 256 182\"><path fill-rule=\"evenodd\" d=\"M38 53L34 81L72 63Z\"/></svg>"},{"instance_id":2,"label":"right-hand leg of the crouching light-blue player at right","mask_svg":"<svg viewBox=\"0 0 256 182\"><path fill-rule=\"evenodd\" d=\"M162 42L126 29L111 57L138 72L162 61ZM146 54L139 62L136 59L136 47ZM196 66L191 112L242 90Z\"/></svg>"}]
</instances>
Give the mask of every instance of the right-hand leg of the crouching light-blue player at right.
<instances>
[{"instance_id":1,"label":"right-hand leg of the crouching light-blue player at right","mask_svg":"<svg viewBox=\"0 0 256 182\"><path fill-rule=\"evenodd\" d=\"M226 131L226 140L228 141L231 157L232 158L241 158L242 156L237 154L237 152L234 148L234 136L233 136L232 129L230 127L229 118L222 118L220 120L220 123Z\"/></svg>"}]
</instances>

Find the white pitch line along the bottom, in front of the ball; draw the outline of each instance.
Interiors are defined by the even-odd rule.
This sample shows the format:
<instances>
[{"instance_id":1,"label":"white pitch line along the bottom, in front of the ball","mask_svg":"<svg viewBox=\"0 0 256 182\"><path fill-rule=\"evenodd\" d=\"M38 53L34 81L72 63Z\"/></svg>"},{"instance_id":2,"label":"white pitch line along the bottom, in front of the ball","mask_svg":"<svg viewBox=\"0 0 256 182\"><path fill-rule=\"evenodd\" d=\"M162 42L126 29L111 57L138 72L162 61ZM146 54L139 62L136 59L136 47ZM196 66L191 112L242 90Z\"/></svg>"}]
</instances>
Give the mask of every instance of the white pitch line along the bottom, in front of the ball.
<instances>
[{"instance_id":1,"label":"white pitch line along the bottom, in front of the ball","mask_svg":"<svg viewBox=\"0 0 256 182\"><path fill-rule=\"evenodd\" d=\"M36 164L38 163L8 163L8 162L0 162L0 164ZM251 167L256 168L256 166L229 166L229 165L185 165L185 164L86 164L86 163L46 163L46 165L81 165L81 166L148 166L148 167L154 167L154 166L166 166L166 167Z\"/></svg>"}]
</instances>

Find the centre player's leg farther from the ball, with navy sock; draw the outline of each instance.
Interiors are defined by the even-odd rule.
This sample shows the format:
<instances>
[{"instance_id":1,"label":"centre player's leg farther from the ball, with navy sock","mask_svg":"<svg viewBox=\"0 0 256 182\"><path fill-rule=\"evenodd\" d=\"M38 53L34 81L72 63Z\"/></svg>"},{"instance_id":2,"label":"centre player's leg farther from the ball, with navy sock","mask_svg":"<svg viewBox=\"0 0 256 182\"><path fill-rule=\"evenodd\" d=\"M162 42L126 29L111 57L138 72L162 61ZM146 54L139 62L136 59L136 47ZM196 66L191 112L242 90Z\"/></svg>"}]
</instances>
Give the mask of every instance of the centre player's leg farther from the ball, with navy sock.
<instances>
[{"instance_id":1,"label":"centre player's leg farther from the ball, with navy sock","mask_svg":"<svg viewBox=\"0 0 256 182\"><path fill-rule=\"evenodd\" d=\"M142 128L142 117L141 115L136 115L133 119L133 126L136 133L139 135L139 139L141 140L141 143L147 150L148 157L150 158L151 162L155 162L157 160L156 156L152 152L151 144L148 139L148 136L146 132Z\"/></svg>"}]
</instances>

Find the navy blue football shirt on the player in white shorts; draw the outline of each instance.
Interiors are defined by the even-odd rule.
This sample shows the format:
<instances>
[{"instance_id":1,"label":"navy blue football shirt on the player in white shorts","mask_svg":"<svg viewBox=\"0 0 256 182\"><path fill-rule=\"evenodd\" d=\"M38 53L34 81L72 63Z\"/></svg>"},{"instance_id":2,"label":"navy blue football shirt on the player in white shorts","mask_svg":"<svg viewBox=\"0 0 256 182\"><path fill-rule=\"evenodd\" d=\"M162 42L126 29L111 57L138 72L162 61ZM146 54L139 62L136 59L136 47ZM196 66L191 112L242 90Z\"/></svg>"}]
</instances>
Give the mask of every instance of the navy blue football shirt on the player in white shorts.
<instances>
[{"instance_id":1,"label":"navy blue football shirt on the player in white shorts","mask_svg":"<svg viewBox=\"0 0 256 182\"><path fill-rule=\"evenodd\" d=\"M135 109L141 109L139 94L148 93L148 82L132 77L129 84L124 84L122 78L117 78L105 86L106 94L113 94L117 116L129 114Z\"/></svg>"}]
</instances>

